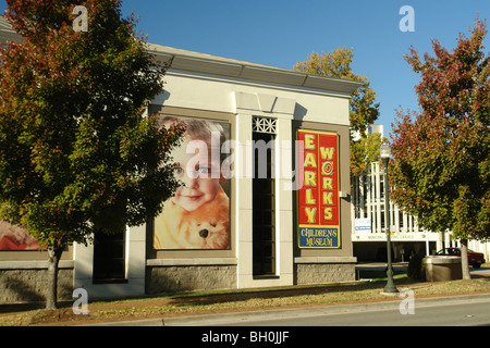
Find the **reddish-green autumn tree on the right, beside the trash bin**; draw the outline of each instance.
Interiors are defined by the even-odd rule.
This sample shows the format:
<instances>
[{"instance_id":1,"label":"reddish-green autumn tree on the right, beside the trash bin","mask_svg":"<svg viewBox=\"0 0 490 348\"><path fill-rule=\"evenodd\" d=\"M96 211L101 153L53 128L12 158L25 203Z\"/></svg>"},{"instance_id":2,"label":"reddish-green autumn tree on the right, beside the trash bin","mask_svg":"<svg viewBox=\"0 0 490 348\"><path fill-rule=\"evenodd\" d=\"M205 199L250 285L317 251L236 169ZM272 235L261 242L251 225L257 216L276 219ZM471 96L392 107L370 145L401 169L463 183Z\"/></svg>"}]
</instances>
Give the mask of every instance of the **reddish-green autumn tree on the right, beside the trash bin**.
<instances>
[{"instance_id":1,"label":"reddish-green autumn tree on the right, beside the trash bin","mask_svg":"<svg viewBox=\"0 0 490 348\"><path fill-rule=\"evenodd\" d=\"M486 22L470 37L460 34L450 53L432 40L434 57L406 61L421 75L419 112L400 111L392 136L392 199L431 231L461 239L490 237L490 58L483 53ZM469 278L467 258L463 274Z\"/></svg>"}]
</instances>

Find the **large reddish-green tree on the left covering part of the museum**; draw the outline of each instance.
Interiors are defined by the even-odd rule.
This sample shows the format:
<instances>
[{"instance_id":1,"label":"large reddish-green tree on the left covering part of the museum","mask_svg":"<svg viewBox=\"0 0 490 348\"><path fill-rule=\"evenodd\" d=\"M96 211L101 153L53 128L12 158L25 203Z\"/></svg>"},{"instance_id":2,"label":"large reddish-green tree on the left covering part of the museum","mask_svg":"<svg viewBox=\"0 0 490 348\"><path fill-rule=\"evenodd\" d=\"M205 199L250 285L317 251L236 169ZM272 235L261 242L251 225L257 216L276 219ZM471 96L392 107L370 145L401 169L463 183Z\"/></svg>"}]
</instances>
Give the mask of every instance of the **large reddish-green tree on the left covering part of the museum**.
<instances>
[{"instance_id":1,"label":"large reddish-green tree on the left covering part of the museum","mask_svg":"<svg viewBox=\"0 0 490 348\"><path fill-rule=\"evenodd\" d=\"M85 1L87 32L73 28L76 2L8 0L23 40L0 50L0 220L48 251L47 309L66 246L145 223L179 185L168 153L182 127L143 116L166 66L121 1Z\"/></svg>"}]
</instances>

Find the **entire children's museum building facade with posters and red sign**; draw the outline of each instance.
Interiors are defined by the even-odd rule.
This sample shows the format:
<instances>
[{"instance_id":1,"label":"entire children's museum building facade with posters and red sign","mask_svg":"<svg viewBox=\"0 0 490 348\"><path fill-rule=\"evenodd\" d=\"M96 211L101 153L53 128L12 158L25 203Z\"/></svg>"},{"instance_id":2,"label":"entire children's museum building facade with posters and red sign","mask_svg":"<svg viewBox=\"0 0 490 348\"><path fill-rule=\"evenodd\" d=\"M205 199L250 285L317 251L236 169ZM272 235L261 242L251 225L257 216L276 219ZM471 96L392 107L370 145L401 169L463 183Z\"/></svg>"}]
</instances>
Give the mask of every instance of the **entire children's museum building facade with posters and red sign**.
<instances>
[{"instance_id":1,"label":"entire children's museum building facade with posters and red sign","mask_svg":"<svg viewBox=\"0 0 490 348\"><path fill-rule=\"evenodd\" d=\"M4 41L5 25L2 33ZM182 176L160 216L63 252L60 297L75 288L94 299L355 279L348 103L359 84L149 49L171 66L148 113L161 126L188 125L175 175L195 176ZM17 228L3 222L0 239ZM0 302L44 298L47 256L28 246L17 238L0 250Z\"/></svg>"}]
</instances>

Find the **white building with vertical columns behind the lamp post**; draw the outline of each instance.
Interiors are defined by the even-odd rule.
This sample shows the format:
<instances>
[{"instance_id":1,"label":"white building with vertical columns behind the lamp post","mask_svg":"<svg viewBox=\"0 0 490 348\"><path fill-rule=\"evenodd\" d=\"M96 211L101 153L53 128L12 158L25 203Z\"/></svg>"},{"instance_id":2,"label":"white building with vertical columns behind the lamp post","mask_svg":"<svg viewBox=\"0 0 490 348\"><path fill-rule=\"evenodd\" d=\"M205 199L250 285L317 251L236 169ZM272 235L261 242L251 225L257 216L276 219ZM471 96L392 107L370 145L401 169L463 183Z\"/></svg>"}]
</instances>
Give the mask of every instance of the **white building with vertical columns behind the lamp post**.
<instances>
[{"instance_id":1,"label":"white building with vertical columns behind the lamp post","mask_svg":"<svg viewBox=\"0 0 490 348\"><path fill-rule=\"evenodd\" d=\"M382 125L371 125L368 133L380 133ZM358 261L385 261L387 210L384 209L384 176L381 162L367 163L367 171L352 177L352 241ZM417 216L409 215L390 202L390 231L395 261L408 261L413 253L432 254L442 248L457 247L451 231L430 232L422 228ZM490 257L490 244L469 240L468 248Z\"/></svg>"}]
</instances>

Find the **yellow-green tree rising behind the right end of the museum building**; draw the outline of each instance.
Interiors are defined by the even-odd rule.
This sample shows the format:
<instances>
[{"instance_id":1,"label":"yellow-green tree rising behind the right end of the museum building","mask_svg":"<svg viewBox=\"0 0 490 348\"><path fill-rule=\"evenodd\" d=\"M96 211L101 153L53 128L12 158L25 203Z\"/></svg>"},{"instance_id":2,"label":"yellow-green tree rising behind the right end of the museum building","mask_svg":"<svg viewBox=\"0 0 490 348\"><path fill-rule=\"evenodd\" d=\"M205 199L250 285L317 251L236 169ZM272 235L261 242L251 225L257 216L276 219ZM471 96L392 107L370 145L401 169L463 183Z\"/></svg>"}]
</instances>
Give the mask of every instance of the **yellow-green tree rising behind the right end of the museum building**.
<instances>
[{"instance_id":1,"label":"yellow-green tree rising behind the right end of the museum building","mask_svg":"<svg viewBox=\"0 0 490 348\"><path fill-rule=\"evenodd\" d=\"M328 76L332 78L347 78L352 80L362 82L360 86L351 96L350 104L350 124L351 132L358 132L360 139L366 138L366 128L369 124L372 124L379 116L379 103L376 102L376 92L370 88L370 80L366 76L354 74L351 64L354 59L354 49L338 48L330 53L313 52L308 55L308 59L304 62L297 62L294 66L295 70L305 72L308 74L316 74L321 76ZM371 139L372 140L372 139ZM372 144L371 140L368 142ZM359 157L359 147L366 141L354 140L351 138L351 173L356 175L366 165L367 150ZM379 147L378 147L379 148Z\"/></svg>"}]
</instances>

